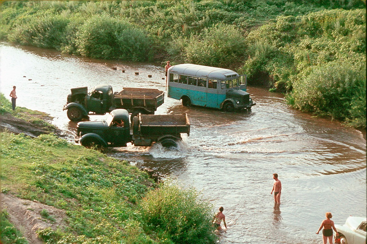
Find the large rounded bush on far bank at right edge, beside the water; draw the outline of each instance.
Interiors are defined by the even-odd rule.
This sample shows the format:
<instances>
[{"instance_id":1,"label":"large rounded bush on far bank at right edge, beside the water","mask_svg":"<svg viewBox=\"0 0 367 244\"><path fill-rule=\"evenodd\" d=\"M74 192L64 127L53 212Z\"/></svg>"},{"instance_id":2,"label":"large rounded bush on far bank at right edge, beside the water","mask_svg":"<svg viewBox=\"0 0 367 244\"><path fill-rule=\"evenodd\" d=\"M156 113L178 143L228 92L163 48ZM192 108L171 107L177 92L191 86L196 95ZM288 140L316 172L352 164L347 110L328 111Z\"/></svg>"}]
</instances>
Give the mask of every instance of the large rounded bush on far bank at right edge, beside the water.
<instances>
[{"instance_id":1,"label":"large rounded bush on far bank at right edge, beside the water","mask_svg":"<svg viewBox=\"0 0 367 244\"><path fill-rule=\"evenodd\" d=\"M313 67L293 86L296 108L342 120L352 116L352 120L366 121L366 95L362 95L366 91L366 66L330 62Z\"/></svg>"}]
</instances>

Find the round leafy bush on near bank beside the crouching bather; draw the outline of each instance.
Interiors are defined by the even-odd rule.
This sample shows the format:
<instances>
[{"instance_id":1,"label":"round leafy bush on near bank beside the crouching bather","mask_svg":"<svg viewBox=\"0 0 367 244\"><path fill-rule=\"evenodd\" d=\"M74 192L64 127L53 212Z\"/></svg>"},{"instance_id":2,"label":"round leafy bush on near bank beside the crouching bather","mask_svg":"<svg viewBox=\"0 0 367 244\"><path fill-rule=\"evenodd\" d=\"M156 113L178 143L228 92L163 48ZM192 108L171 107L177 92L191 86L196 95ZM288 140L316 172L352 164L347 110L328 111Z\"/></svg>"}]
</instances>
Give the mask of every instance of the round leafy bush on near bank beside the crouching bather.
<instances>
[{"instance_id":1,"label":"round leafy bush on near bank beside the crouching bather","mask_svg":"<svg viewBox=\"0 0 367 244\"><path fill-rule=\"evenodd\" d=\"M174 243L215 243L212 206L198 197L193 189L165 184L143 199L142 219L152 232Z\"/></svg>"}]
</instances>

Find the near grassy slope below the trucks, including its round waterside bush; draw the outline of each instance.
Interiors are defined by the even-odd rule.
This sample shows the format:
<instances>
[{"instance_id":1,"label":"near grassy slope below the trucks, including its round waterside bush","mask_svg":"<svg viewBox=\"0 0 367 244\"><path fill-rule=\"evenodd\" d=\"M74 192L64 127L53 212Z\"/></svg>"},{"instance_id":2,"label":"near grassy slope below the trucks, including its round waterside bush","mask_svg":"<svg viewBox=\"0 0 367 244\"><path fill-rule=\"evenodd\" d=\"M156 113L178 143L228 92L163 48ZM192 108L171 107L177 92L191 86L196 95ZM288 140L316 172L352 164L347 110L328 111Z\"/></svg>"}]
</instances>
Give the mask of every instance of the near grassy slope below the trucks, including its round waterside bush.
<instances>
[{"instance_id":1,"label":"near grassy slope below the trucks, including its round waterside bush","mask_svg":"<svg viewBox=\"0 0 367 244\"><path fill-rule=\"evenodd\" d=\"M73 145L53 134L1 134L1 191L65 213L64 226L37 231L47 244L215 243L212 207L193 189L165 184L127 161ZM30 209L30 211L34 211ZM26 243L1 217L1 241Z\"/></svg>"}]
</instances>

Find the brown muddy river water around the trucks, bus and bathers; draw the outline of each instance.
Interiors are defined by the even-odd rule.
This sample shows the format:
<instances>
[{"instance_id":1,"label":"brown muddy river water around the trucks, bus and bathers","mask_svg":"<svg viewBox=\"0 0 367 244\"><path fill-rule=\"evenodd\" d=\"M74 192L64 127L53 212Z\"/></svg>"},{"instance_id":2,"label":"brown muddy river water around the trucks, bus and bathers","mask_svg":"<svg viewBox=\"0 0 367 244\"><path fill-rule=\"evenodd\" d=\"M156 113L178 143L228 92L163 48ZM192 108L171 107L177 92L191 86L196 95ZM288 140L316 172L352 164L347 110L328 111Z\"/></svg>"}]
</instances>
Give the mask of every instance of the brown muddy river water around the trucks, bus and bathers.
<instances>
[{"instance_id":1,"label":"brown muddy river water around the trucks, bus and bathers","mask_svg":"<svg viewBox=\"0 0 367 244\"><path fill-rule=\"evenodd\" d=\"M65 134L75 130L75 123L62 111L70 88L107 83L115 91L165 90L161 67L48 49L1 44L0 68L1 92L7 96L16 85L17 104L51 114ZM215 208L223 206L228 225L220 233L224 244L321 243L322 236L315 232L325 212L332 212L339 224L349 215L365 217L365 135L294 110L281 95L266 89L248 91L258 104L250 113L185 108L166 98L156 114L186 112L191 122L191 134L183 138L179 151L128 145L109 154L194 186ZM91 117L99 118L104 116ZM273 173L279 174L283 185L280 207L274 206L270 195Z\"/></svg>"}]
</instances>

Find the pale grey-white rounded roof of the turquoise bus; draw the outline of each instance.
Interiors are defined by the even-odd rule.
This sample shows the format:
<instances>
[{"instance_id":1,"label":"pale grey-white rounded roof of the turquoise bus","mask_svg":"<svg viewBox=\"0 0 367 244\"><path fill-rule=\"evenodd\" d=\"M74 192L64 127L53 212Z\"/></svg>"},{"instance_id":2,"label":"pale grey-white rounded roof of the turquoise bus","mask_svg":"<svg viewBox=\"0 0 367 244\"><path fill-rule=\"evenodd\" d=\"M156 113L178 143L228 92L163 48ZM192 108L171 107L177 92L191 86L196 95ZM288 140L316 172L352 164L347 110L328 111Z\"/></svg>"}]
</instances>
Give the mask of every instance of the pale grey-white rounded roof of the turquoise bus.
<instances>
[{"instance_id":1,"label":"pale grey-white rounded roof of the turquoise bus","mask_svg":"<svg viewBox=\"0 0 367 244\"><path fill-rule=\"evenodd\" d=\"M198 64L191 64L191 63L174 65L168 69L168 72L173 74L204 77L216 80L226 80L240 76L233 70L198 65Z\"/></svg>"}]
</instances>

